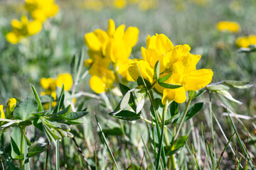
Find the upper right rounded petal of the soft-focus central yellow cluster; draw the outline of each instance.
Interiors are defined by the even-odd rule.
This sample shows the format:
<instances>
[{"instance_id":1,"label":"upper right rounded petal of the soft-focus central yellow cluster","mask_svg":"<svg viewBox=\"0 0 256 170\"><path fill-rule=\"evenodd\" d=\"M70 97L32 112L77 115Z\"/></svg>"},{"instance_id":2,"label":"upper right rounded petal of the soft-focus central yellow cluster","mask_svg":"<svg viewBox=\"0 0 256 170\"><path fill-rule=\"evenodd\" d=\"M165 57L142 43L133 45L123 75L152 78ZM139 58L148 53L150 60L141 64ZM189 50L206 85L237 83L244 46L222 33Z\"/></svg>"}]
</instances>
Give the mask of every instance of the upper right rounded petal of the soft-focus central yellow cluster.
<instances>
[{"instance_id":1,"label":"upper right rounded petal of the soft-focus central yellow cluster","mask_svg":"<svg viewBox=\"0 0 256 170\"><path fill-rule=\"evenodd\" d=\"M124 33L124 42L128 47L134 47L138 41L139 29L136 27L129 27Z\"/></svg>"}]
</instances>

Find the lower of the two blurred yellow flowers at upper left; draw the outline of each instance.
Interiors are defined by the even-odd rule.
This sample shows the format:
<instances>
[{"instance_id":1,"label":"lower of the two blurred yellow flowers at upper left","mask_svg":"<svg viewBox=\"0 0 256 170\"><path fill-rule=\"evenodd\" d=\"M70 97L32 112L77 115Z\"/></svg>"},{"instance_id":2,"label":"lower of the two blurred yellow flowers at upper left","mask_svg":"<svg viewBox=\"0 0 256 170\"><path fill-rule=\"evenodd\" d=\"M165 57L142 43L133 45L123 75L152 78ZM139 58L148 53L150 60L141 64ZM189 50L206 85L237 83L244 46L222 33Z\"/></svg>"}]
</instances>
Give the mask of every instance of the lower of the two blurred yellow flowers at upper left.
<instances>
[{"instance_id":1,"label":"lower of the two blurred yellow flowers at upper left","mask_svg":"<svg viewBox=\"0 0 256 170\"><path fill-rule=\"evenodd\" d=\"M42 28L41 21L28 21L26 16L21 17L21 21L16 19L11 21L11 32L6 34L6 40L12 44L18 43L21 38L34 35L38 33Z\"/></svg>"}]
</instances>

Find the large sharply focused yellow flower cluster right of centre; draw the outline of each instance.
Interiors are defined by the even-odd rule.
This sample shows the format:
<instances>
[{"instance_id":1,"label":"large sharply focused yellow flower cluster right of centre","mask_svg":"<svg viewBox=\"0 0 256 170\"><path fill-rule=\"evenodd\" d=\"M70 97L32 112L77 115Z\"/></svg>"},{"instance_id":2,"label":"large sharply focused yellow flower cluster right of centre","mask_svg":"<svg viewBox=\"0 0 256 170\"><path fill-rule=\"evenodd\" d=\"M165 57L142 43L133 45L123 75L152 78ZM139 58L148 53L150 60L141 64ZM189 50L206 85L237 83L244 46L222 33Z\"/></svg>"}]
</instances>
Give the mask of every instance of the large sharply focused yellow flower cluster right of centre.
<instances>
[{"instance_id":1,"label":"large sharply focused yellow flower cluster right of centre","mask_svg":"<svg viewBox=\"0 0 256 170\"><path fill-rule=\"evenodd\" d=\"M129 74L134 81L142 77L149 81L151 88L162 94L162 103L167 100L183 103L186 91L197 91L210 83L213 77L211 69L196 69L201 55L193 55L189 45L174 46L166 35L148 36L146 49L142 47L142 60L129 65ZM159 61L159 77L166 77L166 84L181 85L177 89L166 89L154 77L154 66ZM137 69L138 67L138 69Z\"/></svg>"}]
</instances>

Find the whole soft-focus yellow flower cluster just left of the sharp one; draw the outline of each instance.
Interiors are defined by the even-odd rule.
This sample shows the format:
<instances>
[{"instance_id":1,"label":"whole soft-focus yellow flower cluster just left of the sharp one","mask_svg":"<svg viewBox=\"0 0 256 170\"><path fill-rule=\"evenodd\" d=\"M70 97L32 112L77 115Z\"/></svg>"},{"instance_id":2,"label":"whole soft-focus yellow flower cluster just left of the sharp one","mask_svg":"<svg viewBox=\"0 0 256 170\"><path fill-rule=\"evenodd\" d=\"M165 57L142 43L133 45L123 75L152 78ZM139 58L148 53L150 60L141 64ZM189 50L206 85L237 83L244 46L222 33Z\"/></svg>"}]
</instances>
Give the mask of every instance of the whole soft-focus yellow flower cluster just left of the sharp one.
<instances>
[{"instance_id":1,"label":"whole soft-focus yellow flower cluster just left of the sharp one","mask_svg":"<svg viewBox=\"0 0 256 170\"><path fill-rule=\"evenodd\" d=\"M132 47L137 43L139 29L124 29L124 25L116 29L114 21L110 19L107 32L97 29L85 34L85 45L89 49L90 57L89 60L85 60L85 67L90 65L89 73L92 78L89 84L97 94L112 88L115 79L118 79L117 72L128 81L132 79L127 72L127 62ZM110 69L111 64L114 71Z\"/></svg>"}]
</instances>

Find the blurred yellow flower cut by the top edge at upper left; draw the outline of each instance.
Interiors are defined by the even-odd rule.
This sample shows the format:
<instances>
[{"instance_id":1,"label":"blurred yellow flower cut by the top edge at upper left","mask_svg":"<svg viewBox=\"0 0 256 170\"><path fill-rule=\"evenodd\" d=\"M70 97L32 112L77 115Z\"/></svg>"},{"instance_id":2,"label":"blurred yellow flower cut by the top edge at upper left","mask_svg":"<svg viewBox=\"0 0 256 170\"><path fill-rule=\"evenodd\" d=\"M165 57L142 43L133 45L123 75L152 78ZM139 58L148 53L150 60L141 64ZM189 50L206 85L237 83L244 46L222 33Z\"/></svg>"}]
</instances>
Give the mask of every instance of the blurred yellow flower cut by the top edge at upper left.
<instances>
[{"instance_id":1,"label":"blurred yellow flower cut by the top edge at upper left","mask_svg":"<svg viewBox=\"0 0 256 170\"><path fill-rule=\"evenodd\" d=\"M32 18L41 22L58 12L58 6L53 0L26 0L25 8L31 13Z\"/></svg>"}]
</instances>

